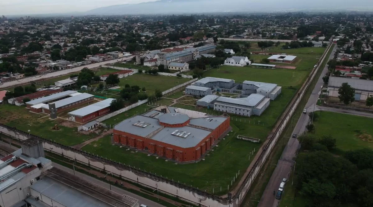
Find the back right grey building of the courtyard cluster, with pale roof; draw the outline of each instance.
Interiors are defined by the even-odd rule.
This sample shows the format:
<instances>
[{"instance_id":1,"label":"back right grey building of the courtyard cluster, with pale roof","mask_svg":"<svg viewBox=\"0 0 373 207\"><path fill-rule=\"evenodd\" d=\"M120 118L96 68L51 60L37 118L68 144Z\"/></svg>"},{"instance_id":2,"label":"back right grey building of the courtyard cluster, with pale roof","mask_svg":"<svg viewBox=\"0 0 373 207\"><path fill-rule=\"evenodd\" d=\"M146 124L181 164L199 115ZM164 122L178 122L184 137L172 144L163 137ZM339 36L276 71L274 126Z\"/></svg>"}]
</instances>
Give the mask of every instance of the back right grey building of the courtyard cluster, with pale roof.
<instances>
[{"instance_id":1,"label":"back right grey building of the courtyard cluster, with pale roof","mask_svg":"<svg viewBox=\"0 0 373 207\"><path fill-rule=\"evenodd\" d=\"M249 93L258 93L271 100L275 100L277 96L281 93L281 86L274 83L262 83L245 80L242 83L242 90L246 90Z\"/></svg>"}]
</instances>

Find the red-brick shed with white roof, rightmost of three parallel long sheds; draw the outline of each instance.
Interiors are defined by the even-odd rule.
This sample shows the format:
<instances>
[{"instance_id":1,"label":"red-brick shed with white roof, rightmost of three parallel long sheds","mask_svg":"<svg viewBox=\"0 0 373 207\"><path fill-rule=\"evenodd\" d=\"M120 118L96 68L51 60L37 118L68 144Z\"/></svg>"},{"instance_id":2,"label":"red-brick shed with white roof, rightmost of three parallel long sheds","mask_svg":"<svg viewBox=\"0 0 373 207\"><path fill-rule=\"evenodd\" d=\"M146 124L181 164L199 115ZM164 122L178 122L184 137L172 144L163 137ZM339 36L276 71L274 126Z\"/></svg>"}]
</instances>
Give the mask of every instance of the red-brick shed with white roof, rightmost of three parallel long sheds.
<instances>
[{"instance_id":1,"label":"red-brick shed with white roof, rightmost of three parallel long sheds","mask_svg":"<svg viewBox=\"0 0 373 207\"><path fill-rule=\"evenodd\" d=\"M88 106L85 106L80 109L76 109L75 111L69 112L69 120L79 122L79 123L86 123L88 121L94 120L98 117L110 113L110 104L115 99L108 98L104 101L100 101Z\"/></svg>"}]
</instances>

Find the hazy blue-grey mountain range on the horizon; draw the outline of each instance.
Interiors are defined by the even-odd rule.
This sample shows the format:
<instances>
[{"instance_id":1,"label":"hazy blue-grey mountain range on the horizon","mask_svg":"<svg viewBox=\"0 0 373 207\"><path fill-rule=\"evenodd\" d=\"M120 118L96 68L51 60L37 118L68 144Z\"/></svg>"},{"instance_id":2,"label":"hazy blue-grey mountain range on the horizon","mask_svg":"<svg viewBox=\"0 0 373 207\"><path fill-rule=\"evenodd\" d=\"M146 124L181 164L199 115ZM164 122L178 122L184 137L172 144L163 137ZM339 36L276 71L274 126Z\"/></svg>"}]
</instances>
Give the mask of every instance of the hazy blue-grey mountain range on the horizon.
<instances>
[{"instance_id":1,"label":"hazy blue-grey mountain range on the horizon","mask_svg":"<svg viewBox=\"0 0 373 207\"><path fill-rule=\"evenodd\" d=\"M338 9L372 10L371 0L159 0L138 4L120 4L100 7L84 15L125 14L179 14L212 12L278 12L278 11L332 11ZM369 8L368 8L369 7Z\"/></svg>"}]
</instances>

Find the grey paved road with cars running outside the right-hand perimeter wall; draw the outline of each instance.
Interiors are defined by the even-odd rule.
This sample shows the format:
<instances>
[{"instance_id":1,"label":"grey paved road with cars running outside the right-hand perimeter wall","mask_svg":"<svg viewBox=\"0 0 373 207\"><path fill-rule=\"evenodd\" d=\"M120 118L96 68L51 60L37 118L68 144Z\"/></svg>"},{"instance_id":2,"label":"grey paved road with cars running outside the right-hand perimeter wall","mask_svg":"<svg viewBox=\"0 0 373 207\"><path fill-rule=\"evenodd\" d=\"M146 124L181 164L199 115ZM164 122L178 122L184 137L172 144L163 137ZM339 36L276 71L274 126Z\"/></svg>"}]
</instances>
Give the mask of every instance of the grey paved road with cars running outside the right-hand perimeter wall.
<instances>
[{"instance_id":1,"label":"grey paved road with cars running outside the right-hand perimeter wall","mask_svg":"<svg viewBox=\"0 0 373 207\"><path fill-rule=\"evenodd\" d=\"M330 50L333 50L330 54L329 60L333 59L334 57L334 48L331 48ZM320 78L317 80L316 86L314 87L310 98L308 99L305 108L307 111L314 111L316 109L316 103L317 99L319 98L319 92L321 91L321 87L323 85L323 74L327 72L327 65L322 71L322 74L320 75ZM297 112L295 112L297 113ZM298 113L301 113L299 111ZM297 124L295 125L293 134L302 134L305 131L305 126L308 123L308 115L307 114L301 114ZM281 140L277 143L281 144ZM292 165L294 163L293 159L296 155L297 149L299 148L299 142L296 138L290 138L288 143L286 144L281 158L278 160L278 163L276 164L275 171L273 171L273 174L267 184L266 189L263 192L262 197L260 198L258 207L276 207L279 200L275 199L275 195L273 195L273 191L277 192L280 183L282 181L282 178L289 178L290 171L292 169ZM273 163L275 164L275 163ZM288 185L291 185L291 181L288 182Z\"/></svg>"}]
</instances>

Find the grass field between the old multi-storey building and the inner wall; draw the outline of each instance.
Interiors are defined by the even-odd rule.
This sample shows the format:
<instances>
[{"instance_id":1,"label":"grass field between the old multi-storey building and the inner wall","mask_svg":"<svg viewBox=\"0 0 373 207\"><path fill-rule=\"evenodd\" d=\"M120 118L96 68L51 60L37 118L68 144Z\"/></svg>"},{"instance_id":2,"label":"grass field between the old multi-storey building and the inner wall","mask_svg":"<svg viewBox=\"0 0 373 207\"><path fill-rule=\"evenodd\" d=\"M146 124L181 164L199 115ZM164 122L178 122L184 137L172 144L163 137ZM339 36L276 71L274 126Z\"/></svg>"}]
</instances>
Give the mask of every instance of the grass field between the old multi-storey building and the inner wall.
<instances>
[{"instance_id":1,"label":"grass field between the old multi-storey building and the inner wall","mask_svg":"<svg viewBox=\"0 0 373 207\"><path fill-rule=\"evenodd\" d=\"M187 82L190 79L179 78L179 77L170 77L170 76L154 76L144 73L136 73L132 76L128 76L120 79L119 86L125 87L126 84L130 86L138 85L141 88L145 87L147 93L154 93L156 89L160 91L165 91L177 85Z\"/></svg>"}]
</instances>

